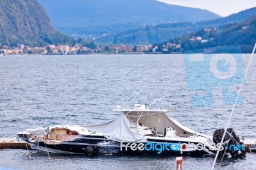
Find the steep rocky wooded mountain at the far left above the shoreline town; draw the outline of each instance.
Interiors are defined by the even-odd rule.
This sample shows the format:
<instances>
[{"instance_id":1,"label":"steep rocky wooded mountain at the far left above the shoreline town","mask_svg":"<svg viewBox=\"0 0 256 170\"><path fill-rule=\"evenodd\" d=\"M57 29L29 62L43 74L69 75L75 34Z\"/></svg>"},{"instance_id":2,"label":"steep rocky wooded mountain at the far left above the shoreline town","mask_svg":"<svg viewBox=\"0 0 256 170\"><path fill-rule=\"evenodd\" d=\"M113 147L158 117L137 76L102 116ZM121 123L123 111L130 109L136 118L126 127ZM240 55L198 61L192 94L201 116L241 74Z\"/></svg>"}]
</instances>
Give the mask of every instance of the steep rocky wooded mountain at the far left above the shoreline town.
<instances>
[{"instance_id":1,"label":"steep rocky wooded mountain at the far left above the shoreline town","mask_svg":"<svg viewBox=\"0 0 256 170\"><path fill-rule=\"evenodd\" d=\"M0 16L11 46L17 43L42 46L72 41L69 36L54 30L47 13L36 0L1 0ZM7 44L2 27L0 41Z\"/></svg>"}]
</instances>

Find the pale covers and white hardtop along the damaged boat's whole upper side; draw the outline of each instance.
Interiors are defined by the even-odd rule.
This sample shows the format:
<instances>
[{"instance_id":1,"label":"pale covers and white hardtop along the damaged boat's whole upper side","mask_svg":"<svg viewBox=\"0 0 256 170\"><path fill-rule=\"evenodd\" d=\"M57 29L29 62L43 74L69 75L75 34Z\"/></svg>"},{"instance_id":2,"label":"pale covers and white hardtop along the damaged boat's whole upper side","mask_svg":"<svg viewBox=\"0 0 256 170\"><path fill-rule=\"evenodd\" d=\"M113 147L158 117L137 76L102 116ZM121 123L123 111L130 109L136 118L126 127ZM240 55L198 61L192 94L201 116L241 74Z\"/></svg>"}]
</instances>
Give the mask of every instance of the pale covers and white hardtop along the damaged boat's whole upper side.
<instances>
[{"instance_id":1,"label":"pale covers and white hardtop along the damaged boat's whole upper side","mask_svg":"<svg viewBox=\"0 0 256 170\"><path fill-rule=\"evenodd\" d=\"M168 116L167 112L169 112L169 110L150 110L143 107L142 109L118 109L116 111L122 112L122 114L120 114L120 116L115 120L109 121L108 123L102 123L100 125L85 127L57 125L54 127L28 129L25 132L20 132L19 134L33 134L36 139L59 139L60 141L63 141L63 139L67 137L66 135L69 131L72 131L71 134L73 133L72 139L75 139L76 135L78 137L78 135L88 135L96 132L104 135L104 137L112 141L124 143L146 143L147 139L145 135L140 133L140 130L142 130L141 128L151 128L155 135L163 135L166 128L172 127L180 137L188 137L190 135L207 137L204 134L200 134L190 128L184 127L178 121Z\"/></svg>"}]
</instances>

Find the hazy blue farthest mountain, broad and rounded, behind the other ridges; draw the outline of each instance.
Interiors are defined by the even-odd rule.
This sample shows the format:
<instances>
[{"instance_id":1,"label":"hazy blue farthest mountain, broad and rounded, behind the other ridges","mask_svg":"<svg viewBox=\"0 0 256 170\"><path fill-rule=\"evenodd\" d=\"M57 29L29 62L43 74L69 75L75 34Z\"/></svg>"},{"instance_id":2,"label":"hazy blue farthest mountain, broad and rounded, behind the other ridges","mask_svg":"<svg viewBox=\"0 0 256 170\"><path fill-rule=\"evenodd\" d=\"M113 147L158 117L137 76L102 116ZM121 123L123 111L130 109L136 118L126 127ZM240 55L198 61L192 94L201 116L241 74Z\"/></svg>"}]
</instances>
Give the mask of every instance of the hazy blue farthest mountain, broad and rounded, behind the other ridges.
<instances>
[{"instance_id":1,"label":"hazy blue farthest mountain, broad and rounded, behind the other ridges","mask_svg":"<svg viewBox=\"0 0 256 170\"><path fill-rule=\"evenodd\" d=\"M207 10L156 0L38 0L63 33L99 36L168 22L218 19Z\"/></svg>"}]
</instances>

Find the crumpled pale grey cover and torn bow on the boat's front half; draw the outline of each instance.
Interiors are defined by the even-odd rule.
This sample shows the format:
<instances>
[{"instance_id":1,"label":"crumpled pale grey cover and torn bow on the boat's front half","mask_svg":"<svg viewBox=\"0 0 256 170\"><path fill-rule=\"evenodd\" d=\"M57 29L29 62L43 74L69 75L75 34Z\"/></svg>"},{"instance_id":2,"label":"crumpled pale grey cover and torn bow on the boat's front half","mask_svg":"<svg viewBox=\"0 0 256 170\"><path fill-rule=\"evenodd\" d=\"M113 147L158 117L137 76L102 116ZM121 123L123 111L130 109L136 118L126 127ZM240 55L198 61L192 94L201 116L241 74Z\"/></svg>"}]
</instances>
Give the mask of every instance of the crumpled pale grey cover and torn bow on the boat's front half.
<instances>
[{"instance_id":1,"label":"crumpled pale grey cover and torn bow on the boat's front half","mask_svg":"<svg viewBox=\"0 0 256 170\"><path fill-rule=\"evenodd\" d=\"M104 137L113 141L124 142L124 143L145 143L147 139L143 135L138 135L132 132L130 121L121 114L115 120L103 123L100 125L92 125L86 127L79 126L68 126L68 125L56 125L52 127L42 127L27 129L19 134L27 134L33 136L33 139L43 141L45 139L55 139L63 141L67 138L67 130L71 130L78 135L88 135L93 132L101 133ZM75 139L76 135L72 139Z\"/></svg>"}]
</instances>

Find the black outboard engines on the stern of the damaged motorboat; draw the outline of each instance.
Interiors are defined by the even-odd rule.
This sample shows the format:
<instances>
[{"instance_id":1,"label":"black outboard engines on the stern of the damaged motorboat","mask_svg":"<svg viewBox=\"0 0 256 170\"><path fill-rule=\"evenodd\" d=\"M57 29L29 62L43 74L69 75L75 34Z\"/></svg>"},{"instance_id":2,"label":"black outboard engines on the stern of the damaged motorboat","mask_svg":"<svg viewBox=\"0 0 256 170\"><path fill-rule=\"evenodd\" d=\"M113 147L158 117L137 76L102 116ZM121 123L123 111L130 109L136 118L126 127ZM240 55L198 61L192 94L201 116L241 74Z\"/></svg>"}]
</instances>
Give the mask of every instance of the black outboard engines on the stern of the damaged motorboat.
<instances>
[{"instance_id":1,"label":"black outboard engines on the stern of the damaged motorboat","mask_svg":"<svg viewBox=\"0 0 256 170\"><path fill-rule=\"evenodd\" d=\"M225 130L223 128L215 130L213 134L213 142L220 144ZM234 132L233 128L228 128L223 140L223 148L225 150L220 152L220 155L230 153L232 157L242 157L246 155L246 151L243 150L243 143Z\"/></svg>"}]
</instances>

